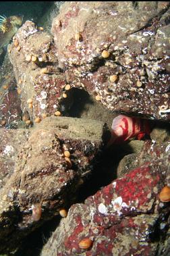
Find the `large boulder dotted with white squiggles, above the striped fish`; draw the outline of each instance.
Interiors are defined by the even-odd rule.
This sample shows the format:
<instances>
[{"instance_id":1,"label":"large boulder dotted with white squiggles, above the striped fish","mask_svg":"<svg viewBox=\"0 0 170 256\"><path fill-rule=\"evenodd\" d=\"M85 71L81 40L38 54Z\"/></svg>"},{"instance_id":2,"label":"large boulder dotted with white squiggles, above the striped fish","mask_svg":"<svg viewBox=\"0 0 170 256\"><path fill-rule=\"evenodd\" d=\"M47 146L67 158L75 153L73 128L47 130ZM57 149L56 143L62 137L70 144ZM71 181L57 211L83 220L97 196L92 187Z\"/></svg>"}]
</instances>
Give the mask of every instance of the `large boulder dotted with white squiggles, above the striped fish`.
<instances>
[{"instance_id":1,"label":"large boulder dotted with white squiggles, above the striped fish","mask_svg":"<svg viewBox=\"0 0 170 256\"><path fill-rule=\"evenodd\" d=\"M169 6L65 2L51 31L67 82L114 112L169 120Z\"/></svg>"}]
</instances>

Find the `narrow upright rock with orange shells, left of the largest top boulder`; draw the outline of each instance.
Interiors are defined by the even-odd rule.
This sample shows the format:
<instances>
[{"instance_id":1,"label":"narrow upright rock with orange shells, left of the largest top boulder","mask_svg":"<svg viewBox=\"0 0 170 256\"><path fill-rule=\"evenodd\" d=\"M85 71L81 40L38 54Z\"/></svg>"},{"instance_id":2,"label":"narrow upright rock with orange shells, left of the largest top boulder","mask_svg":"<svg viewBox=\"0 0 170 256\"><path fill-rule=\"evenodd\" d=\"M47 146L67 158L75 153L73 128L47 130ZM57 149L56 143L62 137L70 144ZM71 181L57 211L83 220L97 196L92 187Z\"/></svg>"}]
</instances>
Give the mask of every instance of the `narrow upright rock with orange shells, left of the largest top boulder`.
<instances>
[{"instance_id":1,"label":"narrow upright rock with orange shells, left of the largest top boulder","mask_svg":"<svg viewBox=\"0 0 170 256\"><path fill-rule=\"evenodd\" d=\"M68 86L65 88L65 74L57 66L53 38L27 21L14 36L8 51L22 111L29 113L30 122L54 115L56 111L66 111L72 104L69 97L72 93Z\"/></svg>"}]
</instances>

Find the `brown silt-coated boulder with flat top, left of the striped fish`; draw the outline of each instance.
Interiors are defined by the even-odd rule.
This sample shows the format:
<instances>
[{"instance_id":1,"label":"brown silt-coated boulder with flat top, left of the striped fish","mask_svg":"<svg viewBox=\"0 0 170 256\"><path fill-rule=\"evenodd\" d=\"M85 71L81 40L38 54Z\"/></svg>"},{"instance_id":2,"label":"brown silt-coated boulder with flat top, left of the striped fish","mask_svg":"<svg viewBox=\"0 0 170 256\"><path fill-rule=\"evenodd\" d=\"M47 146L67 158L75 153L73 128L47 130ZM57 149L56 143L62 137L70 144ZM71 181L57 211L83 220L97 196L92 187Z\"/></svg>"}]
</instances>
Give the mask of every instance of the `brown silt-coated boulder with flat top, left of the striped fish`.
<instances>
[{"instance_id":1,"label":"brown silt-coated boulder with flat top, left of the striped fish","mask_svg":"<svg viewBox=\"0 0 170 256\"><path fill-rule=\"evenodd\" d=\"M17 131L16 139L23 132ZM5 161L11 157L15 167L9 174L6 170L8 176L4 175L0 191L1 253L15 250L24 236L75 200L76 191L92 172L103 148L107 128L92 120L51 117L29 131L29 136L22 134L26 137L15 147L11 130L2 141L15 150L5 156ZM69 151L69 158L65 157L65 150ZM37 204L42 215L34 221L32 212Z\"/></svg>"}]
</instances>

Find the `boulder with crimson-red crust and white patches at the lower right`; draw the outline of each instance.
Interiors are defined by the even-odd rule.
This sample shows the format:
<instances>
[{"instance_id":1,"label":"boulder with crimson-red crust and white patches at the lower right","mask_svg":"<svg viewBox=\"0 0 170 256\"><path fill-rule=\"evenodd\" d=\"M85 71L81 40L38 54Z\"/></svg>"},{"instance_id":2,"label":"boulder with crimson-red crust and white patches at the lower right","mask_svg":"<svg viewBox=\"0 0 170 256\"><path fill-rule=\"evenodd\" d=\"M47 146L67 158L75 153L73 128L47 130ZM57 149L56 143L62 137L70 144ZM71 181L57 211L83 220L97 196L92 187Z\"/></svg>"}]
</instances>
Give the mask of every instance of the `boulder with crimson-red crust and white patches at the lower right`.
<instances>
[{"instance_id":1,"label":"boulder with crimson-red crust and white patches at the lower right","mask_svg":"<svg viewBox=\"0 0 170 256\"><path fill-rule=\"evenodd\" d=\"M169 143L149 153L152 160L72 205L41 255L168 255L170 208L159 193L170 184ZM84 238L92 245L81 249Z\"/></svg>"}]
</instances>

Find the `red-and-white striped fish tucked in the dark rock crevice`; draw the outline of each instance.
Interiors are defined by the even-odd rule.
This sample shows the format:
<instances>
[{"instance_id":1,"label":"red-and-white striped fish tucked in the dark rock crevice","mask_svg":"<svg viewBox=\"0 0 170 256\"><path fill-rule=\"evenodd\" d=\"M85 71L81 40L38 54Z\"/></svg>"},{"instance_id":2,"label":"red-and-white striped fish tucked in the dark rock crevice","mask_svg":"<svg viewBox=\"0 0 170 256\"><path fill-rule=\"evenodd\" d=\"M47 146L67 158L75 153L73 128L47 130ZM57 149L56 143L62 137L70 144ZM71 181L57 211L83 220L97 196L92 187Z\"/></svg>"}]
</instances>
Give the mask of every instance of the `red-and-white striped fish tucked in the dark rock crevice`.
<instances>
[{"instance_id":1,"label":"red-and-white striped fish tucked in the dark rock crevice","mask_svg":"<svg viewBox=\"0 0 170 256\"><path fill-rule=\"evenodd\" d=\"M123 143L125 140L135 136L137 136L138 140L141 140L145 134L150 134L148 120L119 115L113 119L111 139L107 146Z\"/></svg>"}]
</instances>

